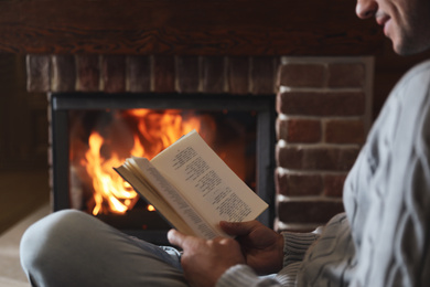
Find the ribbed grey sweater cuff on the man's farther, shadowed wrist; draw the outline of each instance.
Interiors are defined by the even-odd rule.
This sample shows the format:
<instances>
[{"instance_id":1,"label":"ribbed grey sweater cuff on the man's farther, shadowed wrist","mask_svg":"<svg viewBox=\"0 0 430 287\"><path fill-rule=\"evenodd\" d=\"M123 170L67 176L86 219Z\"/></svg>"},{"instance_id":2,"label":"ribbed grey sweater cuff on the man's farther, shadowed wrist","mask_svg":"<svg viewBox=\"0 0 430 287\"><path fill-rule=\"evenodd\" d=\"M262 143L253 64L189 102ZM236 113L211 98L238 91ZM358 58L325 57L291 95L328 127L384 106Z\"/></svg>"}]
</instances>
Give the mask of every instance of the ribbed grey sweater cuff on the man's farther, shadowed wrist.
<instances>
[{"instance_id":1,"label":"ribbed grey sweater cuff on the man's farther, shadowed wrist","mask_svg":"<svg viewBox=\"0 0 430 287\"><path fill-rule=\"evenodd\" d=\"M283 232L283 267L294 262L301 262L320 235L316 233L290 233Z\"/></svg>"}]
</instances>

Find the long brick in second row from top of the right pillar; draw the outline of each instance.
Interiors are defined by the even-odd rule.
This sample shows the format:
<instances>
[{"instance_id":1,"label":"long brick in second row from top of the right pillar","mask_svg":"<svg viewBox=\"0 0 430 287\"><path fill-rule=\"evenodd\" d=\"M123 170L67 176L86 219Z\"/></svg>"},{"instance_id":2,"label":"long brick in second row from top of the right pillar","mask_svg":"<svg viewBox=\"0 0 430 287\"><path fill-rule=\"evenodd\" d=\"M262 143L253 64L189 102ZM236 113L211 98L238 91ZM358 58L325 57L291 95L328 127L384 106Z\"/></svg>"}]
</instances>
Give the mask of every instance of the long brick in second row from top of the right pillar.
<instances>
[{"instance_id":1,"label":"long brick in second row from top of the right pillar","mask_svg":"<svg viewBox=\"0 0 430 287\"><path fill-rule=\"evenodd\" d=\"M359 92L286 92L278 94L277 110L287 115L361 116L365 95Z\"/></svg>"}]
</instances>

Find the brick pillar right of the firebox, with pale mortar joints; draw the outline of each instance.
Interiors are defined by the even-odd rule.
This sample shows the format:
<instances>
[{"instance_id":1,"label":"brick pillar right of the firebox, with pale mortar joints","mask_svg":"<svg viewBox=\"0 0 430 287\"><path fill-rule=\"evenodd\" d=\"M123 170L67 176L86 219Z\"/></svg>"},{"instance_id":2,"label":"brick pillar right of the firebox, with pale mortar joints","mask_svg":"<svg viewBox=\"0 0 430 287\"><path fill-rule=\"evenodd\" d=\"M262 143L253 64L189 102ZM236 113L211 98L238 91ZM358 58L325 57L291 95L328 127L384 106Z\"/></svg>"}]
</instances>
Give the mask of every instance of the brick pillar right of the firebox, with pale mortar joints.
<instances>
[{"instance_id":1,"label":"brick pillar right of the firebox, with pale mortar joints","mask_svg":"<svg viewBox=\"0 0 430 287\"><path fill-rule=\"evenodd\" d=\"M278 230L343 211L342 189L370 125L370 57L282 57L278 73Z\"/></svg>"}]
</instances>

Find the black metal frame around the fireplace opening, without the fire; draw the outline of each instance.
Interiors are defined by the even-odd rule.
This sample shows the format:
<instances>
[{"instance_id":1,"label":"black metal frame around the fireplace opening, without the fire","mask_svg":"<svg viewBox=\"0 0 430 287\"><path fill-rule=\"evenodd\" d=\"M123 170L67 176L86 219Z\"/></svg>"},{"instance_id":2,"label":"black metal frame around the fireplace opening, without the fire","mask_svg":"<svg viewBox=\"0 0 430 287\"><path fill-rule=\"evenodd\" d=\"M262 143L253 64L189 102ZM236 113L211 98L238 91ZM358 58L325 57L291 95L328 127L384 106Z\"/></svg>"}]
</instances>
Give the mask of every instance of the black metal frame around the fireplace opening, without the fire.
<instances>
[{"instance_id":1,"label":"black metal frame around the fireplace opening, without the fire","mask_svg":"<svg viewBox=\"0 0 430 287\"><path fill-rule=\"evenodd\" d=\"M232 94L107 94L107 93L51 93L52 139L52 204L54 211L69 209L68 111L85 109L205 109L257 111L257 188L256 192L269 203L258 220L272 227L275 220L275 95ZM168 244L166 231L121 230L153 242Z\"/></svg>"}]
</instances>

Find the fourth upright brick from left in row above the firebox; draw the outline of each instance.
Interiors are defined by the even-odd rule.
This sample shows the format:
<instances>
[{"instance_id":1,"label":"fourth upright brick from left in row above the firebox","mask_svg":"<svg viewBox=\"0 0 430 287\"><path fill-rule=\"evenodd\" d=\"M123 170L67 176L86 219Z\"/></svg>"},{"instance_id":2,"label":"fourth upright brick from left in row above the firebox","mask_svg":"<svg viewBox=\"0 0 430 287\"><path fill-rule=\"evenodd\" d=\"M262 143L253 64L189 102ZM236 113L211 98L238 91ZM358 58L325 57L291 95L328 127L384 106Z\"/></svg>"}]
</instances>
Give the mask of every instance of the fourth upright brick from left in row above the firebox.
<instances>
[{"instance_id":1,"label":"fourth upright brick from left in row above the firebox","mask_svg":"<svg viewBox=\"0 0 430 287\"><path fill-rule=\"evenodd\" d=\"M106 55L101 60L101 77L106 93L126 91L126 57L121 55Z\"/></svg>"}]
</instances>

